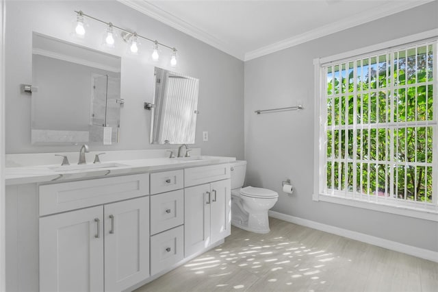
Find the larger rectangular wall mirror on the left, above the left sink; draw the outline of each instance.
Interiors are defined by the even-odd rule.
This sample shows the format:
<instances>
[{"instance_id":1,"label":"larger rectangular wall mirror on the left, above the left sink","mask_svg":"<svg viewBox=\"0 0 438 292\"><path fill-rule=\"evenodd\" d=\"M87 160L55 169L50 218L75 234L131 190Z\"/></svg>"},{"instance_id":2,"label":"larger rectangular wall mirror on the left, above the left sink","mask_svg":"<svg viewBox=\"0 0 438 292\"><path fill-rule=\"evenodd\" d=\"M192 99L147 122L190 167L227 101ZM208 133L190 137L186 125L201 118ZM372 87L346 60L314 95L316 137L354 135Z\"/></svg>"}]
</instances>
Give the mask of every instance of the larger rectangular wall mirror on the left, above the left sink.
<instances>
[{"instance_id":1,"label":"larger rectangular wall mirror on the left, above the left sink","mask_svg":"<svg viewBox=\"0 0 438 292\"><path fill-rule=\"evenodd\" d=\"M34 32L33 144L118 142L121 58Z\"/></svg>"}]
</instances>

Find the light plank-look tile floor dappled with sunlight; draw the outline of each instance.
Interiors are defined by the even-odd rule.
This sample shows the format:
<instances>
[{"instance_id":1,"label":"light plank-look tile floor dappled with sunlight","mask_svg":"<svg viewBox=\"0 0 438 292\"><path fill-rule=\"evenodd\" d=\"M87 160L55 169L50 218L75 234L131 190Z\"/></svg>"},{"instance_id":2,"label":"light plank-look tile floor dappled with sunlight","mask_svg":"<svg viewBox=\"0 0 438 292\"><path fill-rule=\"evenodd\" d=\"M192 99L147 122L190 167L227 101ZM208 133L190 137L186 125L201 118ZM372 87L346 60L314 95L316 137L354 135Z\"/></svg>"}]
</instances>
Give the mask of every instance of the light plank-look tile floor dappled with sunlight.
<instances>
[{"instance_id":1,"label":"light plank-look tile floor dappled with sunlight","mask_svg":"<svg viewBox=\"0 0 438 292\"><path fill-rule=\"evenodd\" d=\"M233 227L222 245L137 291L438 292L438 263L279 219L270 228Z\"/></svg>"}]
</instances>

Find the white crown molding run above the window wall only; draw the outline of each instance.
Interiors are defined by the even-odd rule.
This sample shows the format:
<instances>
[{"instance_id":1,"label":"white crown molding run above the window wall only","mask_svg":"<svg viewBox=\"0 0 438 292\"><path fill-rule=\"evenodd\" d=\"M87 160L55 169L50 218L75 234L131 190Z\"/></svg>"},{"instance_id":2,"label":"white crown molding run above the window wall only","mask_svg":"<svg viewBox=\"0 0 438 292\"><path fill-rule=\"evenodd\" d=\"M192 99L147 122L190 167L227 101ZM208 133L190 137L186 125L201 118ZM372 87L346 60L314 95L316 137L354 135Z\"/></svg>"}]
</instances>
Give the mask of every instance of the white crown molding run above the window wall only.
<instances>
[{"instance_id":1,"label":"white crown molding run above the window wall only","mask_svg":"<svg viewBox=\"0 0 438 292\"><path fill-rule=\"evenodd\" d=\"M318 27L316 29L312 29L309 32L305 32L303 34L298 34L297 36L293 36L292 38L287 38L285 40L281 40L279 42L274 42L272 45L268 45L265 47L261 47L260 49L256 49L254 51L249 51L245 53L244 61L252 60L255 58L259 58L261 56L268 55L270 53L274 53L276 51L281 51L282 49L287 49L289 47L294 47L296 45L300 45L304 42L309 42L310 40L315 40L317 38L321 38L323 36L328 36L329 34L334 34L335 32L341 32L344 29L349 29L351 27L355 27L357 25L361 25L364 23L369 23L371 21L375 21L377 19L381 19L385 16L389 16L391 14L396 14L398 12L402 12L404 10L409 10L411 8L415 8L417 6L432 2L435 0L425 0L425 1L407 1L407 2L397 2L391 1L391 3L387 3L382 5L378 10L372 10L368 13L361 14L359 16L352 16L347 19L343 19L341 21L337 21L335 23L331 23L329 25L324 25L322 27Z\"/></svg>"}]
</instances>

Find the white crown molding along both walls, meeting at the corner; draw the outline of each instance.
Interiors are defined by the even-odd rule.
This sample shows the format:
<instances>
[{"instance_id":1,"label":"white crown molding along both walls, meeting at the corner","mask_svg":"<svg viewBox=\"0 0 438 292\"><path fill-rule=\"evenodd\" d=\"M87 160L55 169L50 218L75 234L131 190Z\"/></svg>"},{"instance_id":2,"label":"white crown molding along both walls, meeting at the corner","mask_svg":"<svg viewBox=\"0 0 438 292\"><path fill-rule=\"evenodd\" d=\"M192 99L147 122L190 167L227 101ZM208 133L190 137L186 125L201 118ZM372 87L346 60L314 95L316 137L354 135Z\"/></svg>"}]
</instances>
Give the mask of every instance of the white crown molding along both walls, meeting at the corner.
<instances>
[{"instance_id":1,"label":"white crown molding along both walls, meeting at the corner","mask_svg":"<svg viewBox=\"0 0 438 292\"><path fill-rule=\"evenodd\" d=\"M259 58L261 56L268 55L270 53L274 53L276 51L281 51L282 49L287 49L289 47L294 47L296 45L300 45L304 42L309 42L310 40L315 40L317 38L321 38L323 36L328 36L329 34L334 34L335 32L341 32L344 29L349 29L351 27L355 27L357 25L362 25L363 23L368 23L370 21L375 21L376 19L381 19L385 16L389 16L391 14L396 14L398 12L402 12L404 10L409 10L411 8L415 8L417 6L433 2L435 0L424 0L424 1L391 1L390 3L386 3L378 8L378 10L372 10L369 12L365 12L360 14L359 16L352 16L347 19L342 19L341 21L337 21L335 23L331 23L329 25L324 25L322 27L318 27L316 29L312 29L309 32L305 32L299 34L297 36L293 36L292 38L287 38L285 40L281 40L279 42L274 42L272 45L267 45L265 47L261 47L254 51L244 52L243 50L239 50L235 47L231 47L231 45L211 36L207 32L203 31L190 23L179 19L177 16L170 14L157 6L149 3L146 0L117 0L124 5L133 8L147 16L150 16L157 21L160 21L170 27L178 29L180 32L188 34L198 40L201 40L207 45L211 45L220 51L224 51L231 56L234 56L237 59L248 61L253 60L255 58Z\"/></svg>"}]
</instances>

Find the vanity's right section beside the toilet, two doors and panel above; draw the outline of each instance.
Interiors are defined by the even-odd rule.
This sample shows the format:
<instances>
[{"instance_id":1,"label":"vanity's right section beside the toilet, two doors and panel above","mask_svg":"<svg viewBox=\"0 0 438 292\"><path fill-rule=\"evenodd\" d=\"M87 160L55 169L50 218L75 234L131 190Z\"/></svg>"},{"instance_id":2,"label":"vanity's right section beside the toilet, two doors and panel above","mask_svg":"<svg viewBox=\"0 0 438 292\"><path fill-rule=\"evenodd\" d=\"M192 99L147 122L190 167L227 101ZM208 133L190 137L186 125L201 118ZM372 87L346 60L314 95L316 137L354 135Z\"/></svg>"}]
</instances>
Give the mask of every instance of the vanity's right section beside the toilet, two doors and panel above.
<instances>
[{"instance_id":1,"label":"vanity's right section beside the toilet, two doors and panel above","mask_svg":"<svg viewBox=\"0 0 438 292\"><path fill-rule=\"evenodd\" d=\"M231 233L231 181L229 165L185 169L185 257L205 250ZM205 183L209 182L209 183Z\"/></svg>"}]
</instances>

